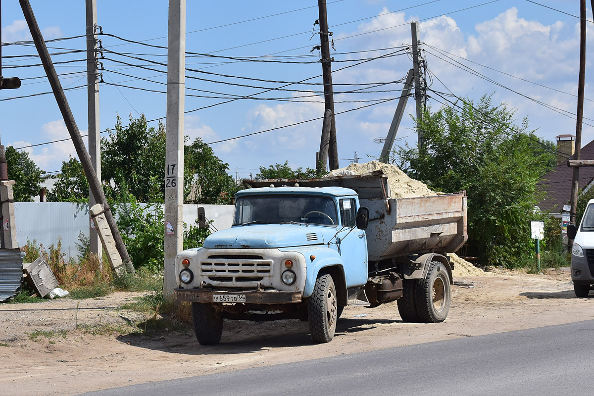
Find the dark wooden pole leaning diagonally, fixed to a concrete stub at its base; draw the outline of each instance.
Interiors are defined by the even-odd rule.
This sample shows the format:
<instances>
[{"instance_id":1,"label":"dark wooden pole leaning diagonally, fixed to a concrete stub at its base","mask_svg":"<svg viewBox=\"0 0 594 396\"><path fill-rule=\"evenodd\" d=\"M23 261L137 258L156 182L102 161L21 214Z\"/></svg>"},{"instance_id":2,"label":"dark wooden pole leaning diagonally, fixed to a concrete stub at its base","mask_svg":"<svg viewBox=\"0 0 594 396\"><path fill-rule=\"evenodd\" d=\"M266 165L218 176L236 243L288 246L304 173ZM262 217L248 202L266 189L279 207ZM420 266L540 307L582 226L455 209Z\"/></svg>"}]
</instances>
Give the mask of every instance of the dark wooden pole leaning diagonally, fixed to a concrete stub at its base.
<instances>
[{"instance_id":1,"label":"dark wooden pole leaning diagonally, fixed to a concrete stub at its base","mask_svg":"<svg viewBox=\"0 0 594 396\"><path fill-rule=\"evenodd\" d=\"M39 58L41 59L46 74L48 75L48 81L52 87L53 96L56 98L56 102L58 103L58 107L62 113L62 117L64 118L64 123L66 124L68 133L72 139L72 144L74 144L78 159L83 166L84 174L87 176L87 180L89 181L89 187L91 188L93 195L96 197L97 203L103 206L106 220L109 224L109 228L112 230L113 238L116 242L116 248L118 248L122 262L127 265L129 272L134 272L134 267L130 262L128 250L124 245L124 241L122 241L122 236L119 233L118 226L115 223L115 219L113 218L113 214L111 213L111 208L109 207L107 199L105 199L101 182L99 179L97 179L97 174L95 173L93 165L91 164L89 153L87 153L87 148L84 147L83 138L80 136L78 125L74 120L74 116L72 115L72 111L68 105L68 100L66 99L64 90L62 89L62 84L60 83L58 74L56 74L56 69L53 67L53 62L49 56L48 47L45 45L45 41L43 41L43 36L39 30L39 25L37 25L37 20L33 14L33 9L31 9L31 4L29 3L29 0L19 0L19 2L21 4L21 8L23 9L25 20L29 25L29 30L31 36L33 37L33 42L35 43L37 52L39 53Z\"/></svg>"}]
</instances>

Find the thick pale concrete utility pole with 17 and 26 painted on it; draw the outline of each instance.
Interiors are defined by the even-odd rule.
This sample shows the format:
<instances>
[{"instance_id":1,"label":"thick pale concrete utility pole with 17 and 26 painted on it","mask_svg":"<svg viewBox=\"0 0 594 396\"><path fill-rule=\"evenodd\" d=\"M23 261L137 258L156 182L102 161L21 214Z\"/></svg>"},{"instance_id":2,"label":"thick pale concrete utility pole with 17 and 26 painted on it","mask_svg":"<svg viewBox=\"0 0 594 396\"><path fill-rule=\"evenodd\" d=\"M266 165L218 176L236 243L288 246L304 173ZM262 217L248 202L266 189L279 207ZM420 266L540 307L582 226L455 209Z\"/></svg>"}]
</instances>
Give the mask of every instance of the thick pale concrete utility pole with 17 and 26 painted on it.
<instances>
[{"instance_id":1,"label":"thick pale concrete utility pole with 17 and 26 painted on it","mask_svg":"<svg viewBox=\"0 0 594 396\"><path fill-rule=\"evenodd\" d=\"M175 289L175 256L184 248L185 0L169 0L163 296Z\"/></svg>"}]
</instances>

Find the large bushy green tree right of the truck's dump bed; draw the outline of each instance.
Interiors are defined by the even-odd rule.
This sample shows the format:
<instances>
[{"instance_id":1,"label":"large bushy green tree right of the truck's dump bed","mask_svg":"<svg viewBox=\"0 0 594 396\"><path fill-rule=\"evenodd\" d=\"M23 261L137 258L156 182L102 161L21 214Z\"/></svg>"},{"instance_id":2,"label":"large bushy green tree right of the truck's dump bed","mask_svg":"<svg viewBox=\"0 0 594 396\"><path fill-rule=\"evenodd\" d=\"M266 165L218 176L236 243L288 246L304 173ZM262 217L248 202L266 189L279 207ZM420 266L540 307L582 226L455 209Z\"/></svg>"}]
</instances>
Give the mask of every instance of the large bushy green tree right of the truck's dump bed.
<instances>
[{"instance_id":1,"label":"large bushy green tree right of the truck's dump bed","mask_svg":"<svg viewBox=\"0 0 594 396\"><path fill-rule=\"evenodd\" d=\"M518 125L513 110L486 95L426 112L418 124L424 150L405 145L400 167L437 191L467 191L469 252L481 262L525 264L533 251L529 221L541 216L533 212L536 182L551 169L552 150L526 118Z\"/></svg>"}]
</instances>

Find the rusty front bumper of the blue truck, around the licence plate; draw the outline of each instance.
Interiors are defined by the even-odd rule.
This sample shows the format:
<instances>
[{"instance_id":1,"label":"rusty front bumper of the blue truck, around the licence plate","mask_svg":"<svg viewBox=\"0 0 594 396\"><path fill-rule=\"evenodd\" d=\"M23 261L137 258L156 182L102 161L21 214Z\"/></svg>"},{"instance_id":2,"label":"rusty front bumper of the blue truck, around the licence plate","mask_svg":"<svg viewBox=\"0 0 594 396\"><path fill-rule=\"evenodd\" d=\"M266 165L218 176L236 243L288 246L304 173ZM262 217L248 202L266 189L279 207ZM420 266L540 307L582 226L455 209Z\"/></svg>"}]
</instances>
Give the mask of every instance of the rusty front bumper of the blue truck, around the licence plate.
<instances>
[{"instance_id":1,"label":"rusty front bumper of the blue truck, around the licence plate","mask_svg":"<svg viewBox=\"0 0 594 396\"><path fill-rule=\"evenodd\" d=\"M301 292L279 292L268 290L257 291L226 291L226 290L199 290L199 289L174 289L174 296L178 300L192 301L199 303L213 302L214 294L242 294L245 295L245 303L249 304L290 304L301 302Z\"/></svg>"}]
</instances>

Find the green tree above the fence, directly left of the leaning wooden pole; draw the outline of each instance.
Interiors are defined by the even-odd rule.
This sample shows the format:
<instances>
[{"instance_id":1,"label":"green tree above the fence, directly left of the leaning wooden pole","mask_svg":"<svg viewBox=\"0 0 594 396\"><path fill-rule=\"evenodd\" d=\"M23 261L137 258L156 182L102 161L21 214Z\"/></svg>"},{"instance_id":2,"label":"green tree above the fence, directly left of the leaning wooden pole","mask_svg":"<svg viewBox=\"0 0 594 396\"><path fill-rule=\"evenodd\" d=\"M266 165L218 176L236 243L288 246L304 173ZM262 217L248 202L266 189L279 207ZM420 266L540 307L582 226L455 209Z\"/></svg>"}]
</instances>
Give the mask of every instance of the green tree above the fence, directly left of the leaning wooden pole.
<instances>
[{"instance_id":1,"label":"green tree above the fence, directly left of the leaning wooden pole","mask_svg":"<svg viewBox=\"0 0 594 396\"><path fill-rule=\"evenodd\" d=\"M62 172L52 179L55 183L48 191L48 201L89 202L89 183L79 160L69 157L68 161L62 161Z\"/></svg>"}]
</instances>

